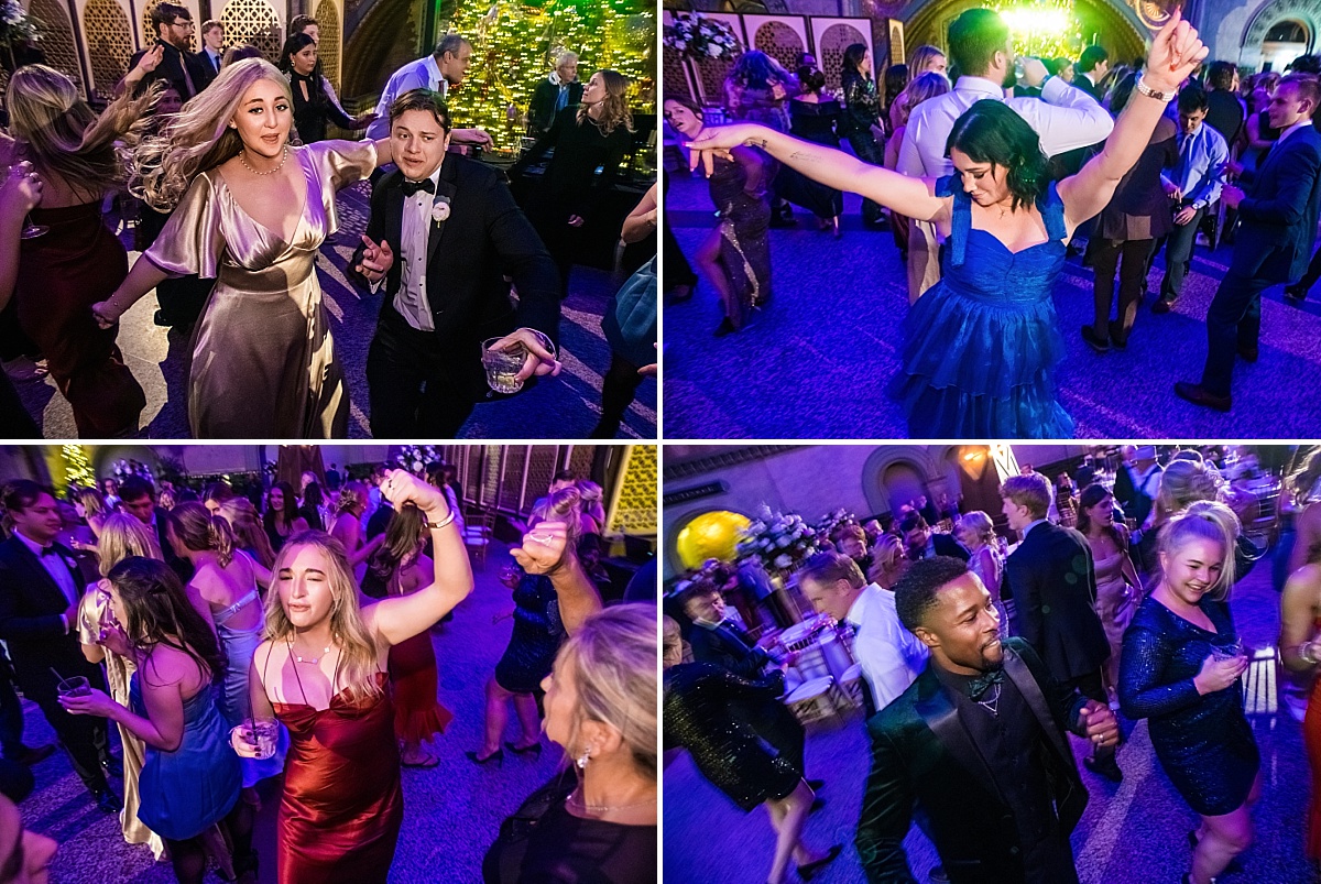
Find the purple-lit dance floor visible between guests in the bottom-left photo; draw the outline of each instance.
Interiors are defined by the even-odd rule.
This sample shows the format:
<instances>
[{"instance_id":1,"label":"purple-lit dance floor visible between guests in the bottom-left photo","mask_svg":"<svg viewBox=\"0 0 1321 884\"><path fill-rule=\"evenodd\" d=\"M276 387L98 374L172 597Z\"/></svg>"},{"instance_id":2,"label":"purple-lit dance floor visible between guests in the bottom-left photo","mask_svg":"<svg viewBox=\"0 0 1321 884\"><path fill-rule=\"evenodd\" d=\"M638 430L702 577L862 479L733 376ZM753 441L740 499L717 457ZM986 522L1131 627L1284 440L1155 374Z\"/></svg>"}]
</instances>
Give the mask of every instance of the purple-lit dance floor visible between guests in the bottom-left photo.
<instances>
[{"instance_id":1,"label":"purple-lit dance floor visible between guests in the bottom-left photo","mask_svg":"<svg viewBox=\"0 0 1321 884\"><path fill-rule=\"evenodd\" d=\"M440 766L404 768L404 823L390 875L395 884L481 880L482 856L494 842L499 823L555 774L563 757L559 748L544 739L539 760L506 752L502 768L478 768L464 756L464 749L477 748L482 739L486 679L509 642L513 621L503 617L491 622L494 616L514 608L510 591L497 580L507 560L506 547L497 543L485 570L474 572L473 595L454 612L453 621L432 633L440 669L440 702L454 714L454 721L431 747ZM36 706L24 704L24 720L28 745L54 739ZM506 739L514 739L513 729ZM169 864L153 863L145 846L124 843L119 822L91 805L62 752L38 764L33 772L37 790L20 810L29 829L59 842L50 864L52 884L166 884L174 880ZM279 788L275 780L263 785L255 844L262 854L260 881L273 883ZM119 786L115 788L118 792ZM213 872L207 880L219 879Z\"/></svg>"}]
</instances>

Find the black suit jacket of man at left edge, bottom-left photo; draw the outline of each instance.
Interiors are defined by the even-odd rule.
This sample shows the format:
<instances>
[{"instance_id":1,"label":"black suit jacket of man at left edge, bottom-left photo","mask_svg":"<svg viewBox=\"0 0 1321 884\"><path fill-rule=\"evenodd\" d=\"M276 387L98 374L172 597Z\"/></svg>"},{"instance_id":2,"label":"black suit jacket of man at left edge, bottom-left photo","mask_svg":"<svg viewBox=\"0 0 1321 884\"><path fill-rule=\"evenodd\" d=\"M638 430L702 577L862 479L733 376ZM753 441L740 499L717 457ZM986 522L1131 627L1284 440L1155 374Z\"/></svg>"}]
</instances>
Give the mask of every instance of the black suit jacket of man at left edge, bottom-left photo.
<instances>
[{"instance_id":1,"label":"black suit jacket of man at left edge, bottom-left photo","mask_svg":"<svg viewBox=\"0 0 1321 884\"><path fill-rule=\"evenodd\" d=\"M82 580L70 566L73 550L58 543L55 550L81 597ZM0 638L9 647L15 681L34 702L55 695L52 667L65 678L86 675L100 684L100 669L82 655L77 622L66 632L59 618L67 609L65 593L22 540L12 536L0 543Z\"/></svg>"}]
</instances>

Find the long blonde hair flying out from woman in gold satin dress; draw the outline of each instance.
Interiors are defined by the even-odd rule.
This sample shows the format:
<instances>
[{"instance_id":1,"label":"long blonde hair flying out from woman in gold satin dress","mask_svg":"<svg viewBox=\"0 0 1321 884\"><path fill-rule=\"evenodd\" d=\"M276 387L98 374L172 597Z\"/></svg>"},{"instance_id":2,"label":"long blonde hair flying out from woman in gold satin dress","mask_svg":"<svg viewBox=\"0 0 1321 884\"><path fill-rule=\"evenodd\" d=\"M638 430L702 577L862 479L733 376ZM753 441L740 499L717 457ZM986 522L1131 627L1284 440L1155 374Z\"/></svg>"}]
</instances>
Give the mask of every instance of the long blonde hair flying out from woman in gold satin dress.
<instances>
[{"instance_id":1,"label":"long blonde hair flying out from woman in gold satin dress","mask_svg":"<svg viewBox=\"0 0 1321 884\"><path fill-rule=\"evenodd\" d=\"M159 135L143 140L133 155L129 192L152 209L169 211L193 178L238 156L243 139L230 120L247 90L263 79L277 83L292 107L289 81L271 62L247 58L225 67Z\"/></svg>"}]
</instances>

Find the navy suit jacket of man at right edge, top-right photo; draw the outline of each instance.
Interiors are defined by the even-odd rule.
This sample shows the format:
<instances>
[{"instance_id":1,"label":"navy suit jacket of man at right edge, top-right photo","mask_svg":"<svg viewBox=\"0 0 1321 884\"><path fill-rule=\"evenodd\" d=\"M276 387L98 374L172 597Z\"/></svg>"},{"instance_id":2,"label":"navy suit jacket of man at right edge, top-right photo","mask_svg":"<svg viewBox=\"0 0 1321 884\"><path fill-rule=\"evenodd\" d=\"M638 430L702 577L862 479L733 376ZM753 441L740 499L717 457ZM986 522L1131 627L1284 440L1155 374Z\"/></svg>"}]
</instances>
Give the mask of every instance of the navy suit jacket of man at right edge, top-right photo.
<instances>
[{"instance_id":1,"label":"navy suit jacket of man at right edge, top-right photo","mask_svg":"<svg viewBox=\"0 0 1321 884\"><path fill-rule=\"evenodd\" d=\"M1276 144L1239 203L1230 268L1292 283L1306 272L1321 214L1321 133L1304 126Z\"/></svg>"}]
</instances>

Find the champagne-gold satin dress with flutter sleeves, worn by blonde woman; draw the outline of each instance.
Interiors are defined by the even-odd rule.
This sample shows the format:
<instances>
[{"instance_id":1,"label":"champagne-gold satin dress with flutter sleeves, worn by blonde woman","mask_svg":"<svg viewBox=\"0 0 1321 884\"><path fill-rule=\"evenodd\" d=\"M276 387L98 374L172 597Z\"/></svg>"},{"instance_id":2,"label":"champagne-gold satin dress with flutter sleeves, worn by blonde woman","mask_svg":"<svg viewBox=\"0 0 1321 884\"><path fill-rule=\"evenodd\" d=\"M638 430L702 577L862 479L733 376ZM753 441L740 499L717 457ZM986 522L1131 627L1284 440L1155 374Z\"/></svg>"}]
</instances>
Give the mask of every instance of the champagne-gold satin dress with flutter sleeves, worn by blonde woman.
<instances>
[{"instance_id":1,"label":"champagne-gold satin dress with flutter sleeves, worn by blonde woman","mask_svg":"<svg viewBox=\"0 0 1321 884\"><path fill-rule=\"evenodd\" d=\"M215 279L188 385L194 439L342 439L349 394L316 260L338 229L336 192L376 168L373 141L289 148L306 178L292 242L254 221L215 169L197 176L147 250L172 276Z\"/></svg>"}]
</instances>

